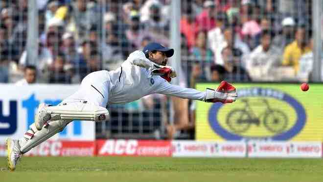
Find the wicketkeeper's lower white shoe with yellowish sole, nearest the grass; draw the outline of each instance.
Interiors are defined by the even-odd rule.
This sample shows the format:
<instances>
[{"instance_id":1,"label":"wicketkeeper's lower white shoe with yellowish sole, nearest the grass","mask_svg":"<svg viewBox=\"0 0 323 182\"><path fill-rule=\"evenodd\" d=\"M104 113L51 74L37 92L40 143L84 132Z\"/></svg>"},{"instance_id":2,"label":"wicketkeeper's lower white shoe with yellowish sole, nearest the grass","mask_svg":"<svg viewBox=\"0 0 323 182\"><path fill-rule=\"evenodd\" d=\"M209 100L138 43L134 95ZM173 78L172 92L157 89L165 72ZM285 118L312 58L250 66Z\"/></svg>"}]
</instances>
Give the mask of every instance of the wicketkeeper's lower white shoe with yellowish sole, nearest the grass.
<instances>
[{"instance_id":1,"label":"wicketkeeper's lower white shoe with yellowish sole, nearest the grass","mask_svg":"<svg viewBox=\"0 0 323 182\"><path fill-rule=\"evenodd\" d=\"M14 171L16 169L17 162L20 160L22 153L20 152L20 145L18 140L7 138L5 146L8 152L8 169Z\"/></svg>"}]
</instances>

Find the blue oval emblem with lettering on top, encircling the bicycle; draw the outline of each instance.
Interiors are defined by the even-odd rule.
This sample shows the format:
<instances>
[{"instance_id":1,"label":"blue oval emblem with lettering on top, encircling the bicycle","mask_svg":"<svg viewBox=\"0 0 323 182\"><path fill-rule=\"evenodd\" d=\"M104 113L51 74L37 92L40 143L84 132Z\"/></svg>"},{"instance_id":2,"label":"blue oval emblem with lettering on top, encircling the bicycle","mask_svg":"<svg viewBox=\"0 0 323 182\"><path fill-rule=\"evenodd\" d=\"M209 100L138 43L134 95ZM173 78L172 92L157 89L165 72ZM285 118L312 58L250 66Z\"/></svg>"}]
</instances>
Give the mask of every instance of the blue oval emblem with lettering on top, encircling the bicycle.
<instances>
[{"instance_id":1,"label":"blue oval emblem with lettering on top, encircling the bicycle","mask_svg":"<svg viewBox=\"0 0 323 182\"><path fill-rule=\"evenodd\" d=\"M241 102L243 107L214 103L208 110L208 124L211 130L225 140L267 138L284 141L293 138L305 126L306 112L303 105L281 90L246 87L238 90L238 96L238 103ZM257 99L261 106L255 108L251 103L254 99ZM271 103L272 99L275 99L273 103L278 101L281 105L274 106ZM225 108L222 110L223 107ZM252 132L258 127L259 132Z\"/></svg>"}]
</instances>

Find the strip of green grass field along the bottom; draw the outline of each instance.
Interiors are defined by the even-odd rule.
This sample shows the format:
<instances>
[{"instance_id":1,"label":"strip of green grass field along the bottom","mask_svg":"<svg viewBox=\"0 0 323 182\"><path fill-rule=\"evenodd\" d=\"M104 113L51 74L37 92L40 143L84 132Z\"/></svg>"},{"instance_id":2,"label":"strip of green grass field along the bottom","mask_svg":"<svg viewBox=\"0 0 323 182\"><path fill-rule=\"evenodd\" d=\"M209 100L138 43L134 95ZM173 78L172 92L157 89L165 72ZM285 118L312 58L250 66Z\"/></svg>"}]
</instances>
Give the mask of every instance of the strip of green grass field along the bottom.
<instances>
[{"instance_id":1,"label":"strip of green grass field along the bottom","mask_svg":"<svg viewBox=\"0 0 323 182\"><path fill-rule=\"evenodd\" d=\"M322 159L0 157L0 182L323 182Z\"/></svg>"}]
</instances>

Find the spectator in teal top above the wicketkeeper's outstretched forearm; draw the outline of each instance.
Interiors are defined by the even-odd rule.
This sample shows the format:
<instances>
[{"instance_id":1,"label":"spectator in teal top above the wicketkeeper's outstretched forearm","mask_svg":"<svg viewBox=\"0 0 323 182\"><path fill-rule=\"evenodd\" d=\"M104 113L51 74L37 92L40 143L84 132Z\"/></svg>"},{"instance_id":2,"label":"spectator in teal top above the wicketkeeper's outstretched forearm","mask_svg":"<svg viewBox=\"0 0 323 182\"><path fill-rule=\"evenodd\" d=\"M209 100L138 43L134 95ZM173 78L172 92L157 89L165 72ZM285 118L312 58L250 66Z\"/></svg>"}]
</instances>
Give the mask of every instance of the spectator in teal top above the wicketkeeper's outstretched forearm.
<instances>
[{"instance_id":1,"label":"spectator in teal top above the wicketkeeper's outstretched forearm","mask_svg":"<svg viewBox=\"0 0 323 182\"><path fill-rule=\"evenodd\" d=\"M209 80L209 65L214 60L213 52L207 47L207 32L199 31L196 37L195 47L192 48L191 54L203 68L201 75L202 80Z\"/></svg>"}]
</instances>

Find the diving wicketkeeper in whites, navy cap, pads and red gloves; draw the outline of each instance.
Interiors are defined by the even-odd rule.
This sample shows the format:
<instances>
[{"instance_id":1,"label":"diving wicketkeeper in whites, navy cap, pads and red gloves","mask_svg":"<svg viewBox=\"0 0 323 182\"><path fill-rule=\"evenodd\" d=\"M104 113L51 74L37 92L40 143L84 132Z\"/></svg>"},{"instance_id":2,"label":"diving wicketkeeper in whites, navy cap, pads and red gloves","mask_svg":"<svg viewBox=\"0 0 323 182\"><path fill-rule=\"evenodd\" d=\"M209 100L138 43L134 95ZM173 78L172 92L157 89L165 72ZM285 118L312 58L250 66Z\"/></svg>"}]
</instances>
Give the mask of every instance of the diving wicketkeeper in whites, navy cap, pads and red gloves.
<instances>
[{"instance_id":1,"label":"diving wicketkeeper in whites, navy cap, pads and red gloves","mask_svg":"<svg viewBox=\"0 0 323 182\"><path fill-rule=\"evenodd\" d=\"M166 64L173 54L173 49L150 43L143 51L132 52L118 69L86 76L79 90L62 103L56 106L40 104L35 123L23 137L6 140L9 169L16 168L22 154L62 131L73 120L105 121L109 117L108 104L129 103L155 93L211 103L236 100L235 88L225 81L217 90L204 92L170 84L176 72Z\"/></svg>"}]
</instances>

